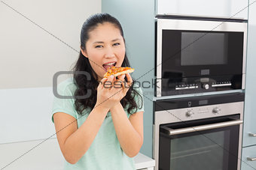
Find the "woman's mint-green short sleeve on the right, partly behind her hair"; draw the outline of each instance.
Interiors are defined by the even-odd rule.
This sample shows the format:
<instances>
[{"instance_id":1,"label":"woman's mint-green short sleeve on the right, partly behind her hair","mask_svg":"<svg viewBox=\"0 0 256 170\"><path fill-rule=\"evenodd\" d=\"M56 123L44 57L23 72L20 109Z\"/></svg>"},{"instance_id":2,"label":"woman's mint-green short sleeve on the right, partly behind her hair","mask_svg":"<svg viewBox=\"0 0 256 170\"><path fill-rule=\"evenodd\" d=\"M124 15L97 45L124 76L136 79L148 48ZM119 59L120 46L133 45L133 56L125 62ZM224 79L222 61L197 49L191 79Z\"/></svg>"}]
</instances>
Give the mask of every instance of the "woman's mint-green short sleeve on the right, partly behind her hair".
<instances>
[{"instance_id":1,"label":"woman's mint-green short sleeve on the right, partly behind her hair","mask_svg":"<svg viewBox=\"0 0 256 170\"><path fill-rule=\"evenodd\" d=\"M136 101L136 104L138 106L137 110L136 108L132 110L132 114L136 112L144 112L144 97L142 88L140 88L138 85L133 85L133 89L137 92L134 92L134 100Z\"/></svg>"}]
</instances>

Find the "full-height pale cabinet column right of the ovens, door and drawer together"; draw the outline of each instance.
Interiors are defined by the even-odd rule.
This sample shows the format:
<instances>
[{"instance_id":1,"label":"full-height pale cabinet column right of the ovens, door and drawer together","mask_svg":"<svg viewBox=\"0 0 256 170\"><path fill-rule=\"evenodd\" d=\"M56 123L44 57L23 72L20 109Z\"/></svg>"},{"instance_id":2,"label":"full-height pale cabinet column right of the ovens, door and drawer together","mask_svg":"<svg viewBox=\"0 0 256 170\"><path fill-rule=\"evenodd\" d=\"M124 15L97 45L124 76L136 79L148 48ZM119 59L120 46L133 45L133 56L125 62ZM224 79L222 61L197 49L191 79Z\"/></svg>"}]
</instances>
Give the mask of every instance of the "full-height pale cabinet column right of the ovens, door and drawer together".
<instances>
[{"instance_id":1,"label":"full-height pale cabinet column right of the ovens, door and drawer together","mask_svg":"<svg viewBox=\"0 0 256 170\"><path fill-rule=\"evenodd\" d=\"M249 1L251 4L254 1ZM248 49L245 82L245 117L242 142L242 170L256 169L256 3L248 9Z\"/></svg>"}]
</instances>

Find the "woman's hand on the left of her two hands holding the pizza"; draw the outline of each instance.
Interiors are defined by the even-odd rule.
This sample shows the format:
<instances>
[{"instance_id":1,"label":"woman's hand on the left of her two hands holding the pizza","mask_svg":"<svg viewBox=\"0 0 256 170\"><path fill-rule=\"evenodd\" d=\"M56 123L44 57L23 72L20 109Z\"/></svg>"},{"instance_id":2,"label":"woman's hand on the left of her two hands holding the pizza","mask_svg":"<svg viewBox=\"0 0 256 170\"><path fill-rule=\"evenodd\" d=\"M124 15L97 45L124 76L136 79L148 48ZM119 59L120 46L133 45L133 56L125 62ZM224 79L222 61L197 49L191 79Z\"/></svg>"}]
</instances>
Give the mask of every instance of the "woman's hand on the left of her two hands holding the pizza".
<instances>
[{"instance_id":1,"label":"woman's hand on the left of her two hands holding the pizza","mask_svg":"<svg viewBox=\"0 0 256 170\"><path fill-rule=\"evenodd\" d=\"M102 79L97 88L96 106L105 109L111 109L126 95L127 90L123 90L123 85L120 80L114 76L109 76L108 79Z\"/></svg>"}]
</instances>

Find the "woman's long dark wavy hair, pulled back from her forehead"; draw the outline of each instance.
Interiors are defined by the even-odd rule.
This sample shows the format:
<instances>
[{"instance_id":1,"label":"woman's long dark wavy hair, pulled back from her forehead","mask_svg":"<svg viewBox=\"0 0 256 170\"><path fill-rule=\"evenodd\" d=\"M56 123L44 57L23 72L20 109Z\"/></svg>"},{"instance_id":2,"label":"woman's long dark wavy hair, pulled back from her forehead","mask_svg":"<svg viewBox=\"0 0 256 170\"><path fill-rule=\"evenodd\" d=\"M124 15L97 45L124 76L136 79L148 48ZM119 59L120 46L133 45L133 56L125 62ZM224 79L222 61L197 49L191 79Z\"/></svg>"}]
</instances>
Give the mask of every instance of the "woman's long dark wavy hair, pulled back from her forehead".
<instances>
[{"instance_id":1,"label":"woman's long dark wavy hair, pulled back from her forehead","mask_svg":"<svg viewBox=\"0 0 256 170\"><path fill-rule=\"evenodd\" d=\"M90 16L84 22L84 25L81 28L81 49L86 50L85 44L87 43L87 40L90 38L89 37L90 31L93 31L93 29L95 29L97 25L103 24L105 22L109 22L113 24L115 27L117 27L120 30L120 34L123 37L123 28L120 25L120 22L116 18L109 15L108 13L97 13L97 14L94 14L93 16ZM123 59L122 67L130 67L130 62L126 56L126 53ZM74 82L75 82L75 85L77 86L77 89L75 91L75 109L78 112L78 114L82 115L82 112L84 111L84 109L87 109L87 108L93 109L93 107L96 104L96 100L97 100L96 88L99 85L99 82L97 81L98 76L93 70L93 68L91 67L89 59L86 58L81 51L78 57L78 61L76 62L72 70L74 72ZM87 73L90 73L91 75L90 81L87 80L87 76L85 76L84 74L79 74L78 71L86 71ZM90 89L91 91L90 97L86 99L78 97L78 96L86 95L88 92L87 91L88 89ZM134 90L132 85L129 91L127 91L126 96L123 97L122 100L120 100L120 103L123 106L123 108L125 108L127 105L129 106L127 109L127 112L130 114L132 114L131 111L133 109L136 109L137 111L138 108L142 107L142 106L137 106L137 103L134 100L134 97L136 94L138 94L139 97L141 97L142 99L142 96L136 90Z\"/></svg>"}]
</instances>

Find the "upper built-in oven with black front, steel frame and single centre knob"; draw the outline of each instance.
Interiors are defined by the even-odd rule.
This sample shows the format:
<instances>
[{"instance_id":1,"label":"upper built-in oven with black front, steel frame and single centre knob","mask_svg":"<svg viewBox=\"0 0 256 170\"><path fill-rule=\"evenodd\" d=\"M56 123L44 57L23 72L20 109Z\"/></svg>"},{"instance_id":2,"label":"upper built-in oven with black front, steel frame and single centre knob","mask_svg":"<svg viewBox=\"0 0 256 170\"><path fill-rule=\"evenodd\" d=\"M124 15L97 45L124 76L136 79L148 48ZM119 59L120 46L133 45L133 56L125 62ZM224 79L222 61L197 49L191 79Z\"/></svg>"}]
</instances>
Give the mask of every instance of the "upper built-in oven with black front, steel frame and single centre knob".
<instances>
[{"instance_id":1,"label":"upper built-in oven with black front, steel frame and single centre knob","mask_svg":"<svg viewBox=\"0 0 256 170\"><path fill-rule=\"evenodd\" d=\"M157 97L245 88L246 20L156 17Z\"/></svg>"}]
</instances>

